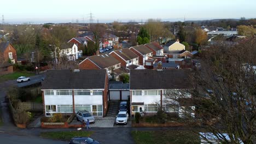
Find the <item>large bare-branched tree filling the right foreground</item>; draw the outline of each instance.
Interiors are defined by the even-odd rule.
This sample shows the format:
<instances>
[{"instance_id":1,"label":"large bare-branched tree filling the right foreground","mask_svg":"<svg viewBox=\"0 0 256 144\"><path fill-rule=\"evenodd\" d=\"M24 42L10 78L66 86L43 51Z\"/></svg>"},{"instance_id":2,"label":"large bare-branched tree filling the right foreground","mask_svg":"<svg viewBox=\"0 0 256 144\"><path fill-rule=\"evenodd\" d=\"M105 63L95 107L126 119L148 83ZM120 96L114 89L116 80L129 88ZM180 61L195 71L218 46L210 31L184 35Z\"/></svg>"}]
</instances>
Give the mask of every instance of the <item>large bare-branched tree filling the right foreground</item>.
<instances>
[{"instance_id":1,"label":"large bare-branched tree filling the right foreground","mask_svg":"<svg viewBox=\"0 0 256 144\"><path fill-rule=\"evenodd\" d=\"M255 143L255 56L255 38L211 46L203 53L201 68L191 74L193 89L169 89L165 103L178 106L188 121L200 122L202 131L218 142ZM212 143L206 135L201 137Z\"/></svg>"}]
</instances>

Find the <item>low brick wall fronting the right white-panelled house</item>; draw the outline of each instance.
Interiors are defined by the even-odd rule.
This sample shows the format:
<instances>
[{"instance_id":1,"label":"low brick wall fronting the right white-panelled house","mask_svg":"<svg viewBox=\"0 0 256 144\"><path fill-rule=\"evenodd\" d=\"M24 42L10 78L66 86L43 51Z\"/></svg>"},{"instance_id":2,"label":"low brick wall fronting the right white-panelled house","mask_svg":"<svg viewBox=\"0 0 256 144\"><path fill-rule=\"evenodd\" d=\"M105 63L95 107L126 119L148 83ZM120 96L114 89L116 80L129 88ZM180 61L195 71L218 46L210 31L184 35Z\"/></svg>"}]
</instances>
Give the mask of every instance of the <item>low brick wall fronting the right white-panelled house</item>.
<instances>
[{"instance_id":1,"label":"low brick wall fronting the right white-panelled house","mask_svg":"<svg viewBox=\"0 0 256 144\"><path fill-rule=\"evenodd\" d=\"M132 127L179 127L184 126L184 123L167 122L167 123L132 123Z\"/></svg>"}]
</instances>

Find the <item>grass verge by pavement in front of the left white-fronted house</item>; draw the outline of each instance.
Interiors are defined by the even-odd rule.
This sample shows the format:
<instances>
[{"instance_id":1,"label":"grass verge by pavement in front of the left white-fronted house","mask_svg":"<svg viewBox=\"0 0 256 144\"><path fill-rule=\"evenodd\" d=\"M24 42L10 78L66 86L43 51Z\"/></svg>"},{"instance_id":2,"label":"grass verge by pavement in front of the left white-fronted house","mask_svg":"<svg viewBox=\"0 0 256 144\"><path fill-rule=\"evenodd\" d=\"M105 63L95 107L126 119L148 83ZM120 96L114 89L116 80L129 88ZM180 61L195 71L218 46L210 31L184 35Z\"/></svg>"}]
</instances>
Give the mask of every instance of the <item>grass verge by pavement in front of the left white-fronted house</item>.
<instances>
[{"instance_id":1,"label":"grass verge by pavement in front of the left white-fronted house","mask_svg":"<svg viewBox=\"0 0 256 144\"><path fill-rule=\"evenodd\" d=\"M74 136L90 137L94 132L92 131L52 131L43 132L40 136L48 137L50 139L69 141Z\"/></svg>"}]
</instances>

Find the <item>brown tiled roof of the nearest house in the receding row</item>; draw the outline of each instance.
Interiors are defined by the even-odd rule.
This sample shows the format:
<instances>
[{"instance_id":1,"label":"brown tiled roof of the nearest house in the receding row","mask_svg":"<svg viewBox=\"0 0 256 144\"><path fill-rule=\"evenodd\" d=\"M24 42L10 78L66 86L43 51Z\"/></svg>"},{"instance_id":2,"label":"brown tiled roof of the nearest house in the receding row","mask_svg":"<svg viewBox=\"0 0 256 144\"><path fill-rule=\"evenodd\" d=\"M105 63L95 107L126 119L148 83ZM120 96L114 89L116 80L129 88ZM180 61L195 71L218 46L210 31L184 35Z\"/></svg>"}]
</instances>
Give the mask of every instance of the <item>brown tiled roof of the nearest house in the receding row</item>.
<instances>
[{"instance_id":1,"label":"brown tiled roof of the nearest house in the receding row","mask_svg":"<svg viewBox=\"0 0 256 144\"><path fill-rule=\"evenodd\" d=\"M119 64L120 62L114 57L110 56L108 53L102 53L100 55L88 57L92 62L94 62L101 69L111 67L113 65Z\"/></svg>"}]
</instances>

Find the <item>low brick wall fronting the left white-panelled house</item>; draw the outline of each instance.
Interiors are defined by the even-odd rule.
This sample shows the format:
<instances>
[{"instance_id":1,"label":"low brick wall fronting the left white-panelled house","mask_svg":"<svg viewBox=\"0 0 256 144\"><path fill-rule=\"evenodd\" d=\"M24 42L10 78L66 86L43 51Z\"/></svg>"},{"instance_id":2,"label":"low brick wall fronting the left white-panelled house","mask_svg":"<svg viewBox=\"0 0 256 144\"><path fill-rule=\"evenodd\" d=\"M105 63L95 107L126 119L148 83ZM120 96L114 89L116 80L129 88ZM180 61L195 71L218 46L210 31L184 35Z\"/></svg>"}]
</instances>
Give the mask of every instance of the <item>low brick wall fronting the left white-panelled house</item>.
<instances>
[{"instance_id":1,"label":"low brick wall fronting the left white-panelled house","mask_svg":"<svg viewBox=\"0 0 256 144\"><path fill-rule=\"evenodd\" d=\"M41 122L41 128L83 128L85 127L85 123L83 124L68 124L65 123L44 123Z\"/></svg>"}]
</instances>

